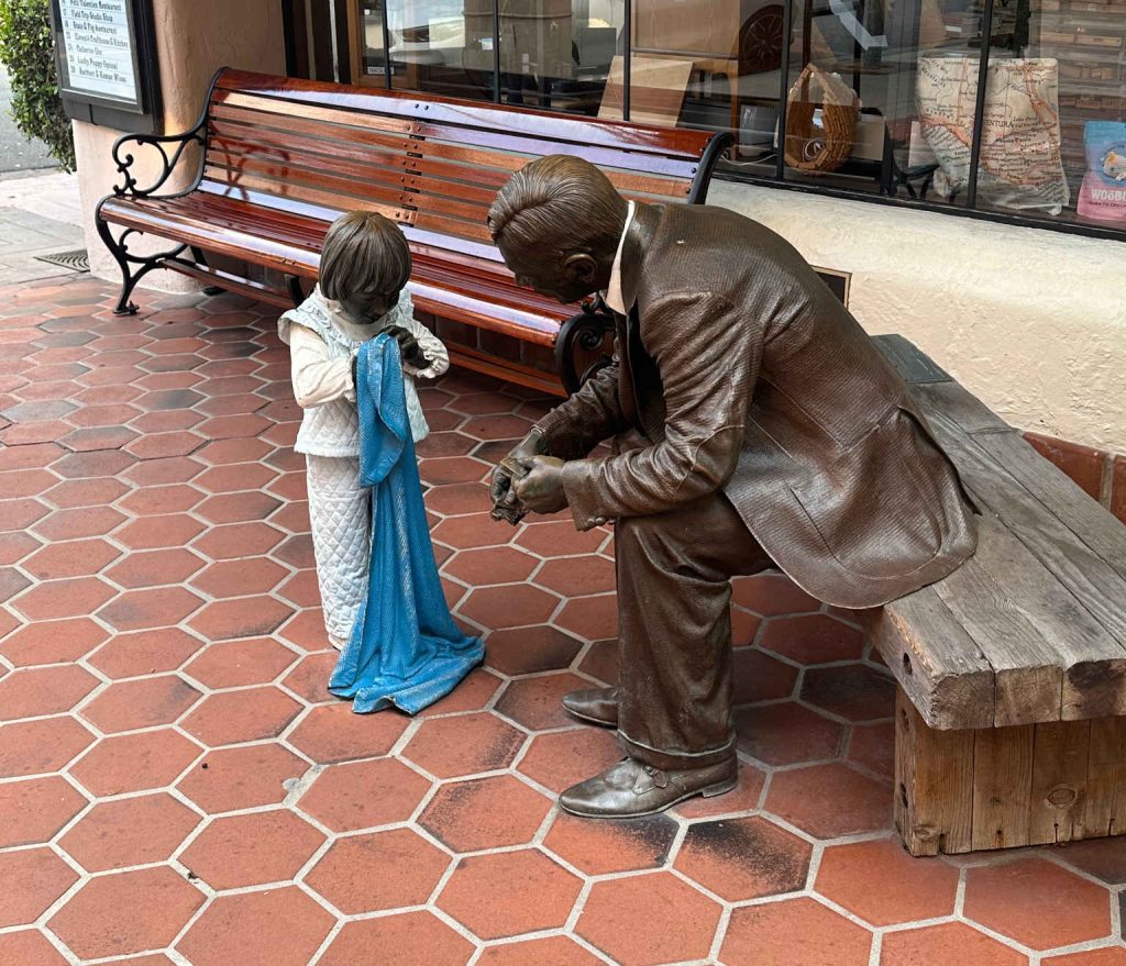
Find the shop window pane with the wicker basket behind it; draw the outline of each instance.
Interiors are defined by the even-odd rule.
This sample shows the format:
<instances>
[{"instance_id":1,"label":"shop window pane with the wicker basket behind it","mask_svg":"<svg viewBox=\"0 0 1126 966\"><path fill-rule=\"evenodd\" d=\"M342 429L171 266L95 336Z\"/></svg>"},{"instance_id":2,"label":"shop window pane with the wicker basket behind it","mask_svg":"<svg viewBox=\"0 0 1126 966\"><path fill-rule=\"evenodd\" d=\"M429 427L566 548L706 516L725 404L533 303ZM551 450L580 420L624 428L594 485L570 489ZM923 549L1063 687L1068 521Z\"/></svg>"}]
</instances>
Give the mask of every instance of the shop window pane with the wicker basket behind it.
<instances>
[{"instance_id":1,"label":"shop window pane with the wicker basket behind it","mask_svg":"<svg viewBox=\"0 0 1126 966\"><path fill-rule=\"evenodd\" d=\"M965 205L984 9L984 0L798 0L786 178ZM1011 34L1011 20L994 18L992 46L1007 47Z\"/></svg>"}]
</instances>

